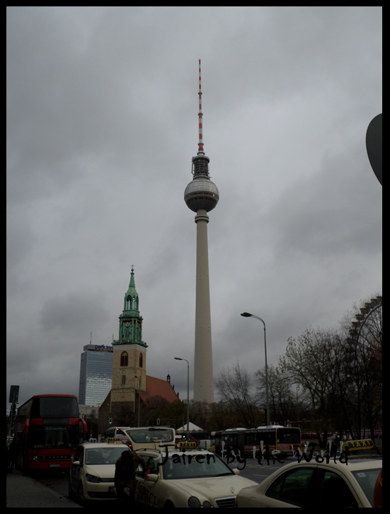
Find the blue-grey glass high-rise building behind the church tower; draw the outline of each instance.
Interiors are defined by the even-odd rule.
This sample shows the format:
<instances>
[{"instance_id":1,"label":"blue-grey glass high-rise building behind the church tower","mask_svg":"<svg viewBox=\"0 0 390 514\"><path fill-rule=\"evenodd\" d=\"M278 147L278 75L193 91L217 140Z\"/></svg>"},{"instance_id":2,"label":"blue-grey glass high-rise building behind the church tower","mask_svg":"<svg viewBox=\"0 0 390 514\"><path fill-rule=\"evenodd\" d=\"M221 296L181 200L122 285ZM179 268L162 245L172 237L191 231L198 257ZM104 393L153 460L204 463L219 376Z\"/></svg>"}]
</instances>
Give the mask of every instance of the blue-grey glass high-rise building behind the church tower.
<instances>
[{"instance_id":1,"label":"blue-grey glass high-rise building behind the church tower","mask_svg":"<svg viewBox=\"0 0 390 514\"><path fill-rule=\"evenodd\" d=\"M81 353L79 404L101 404L111 390L113 347L86 345Z\"/></svg>"}]
</instances>

